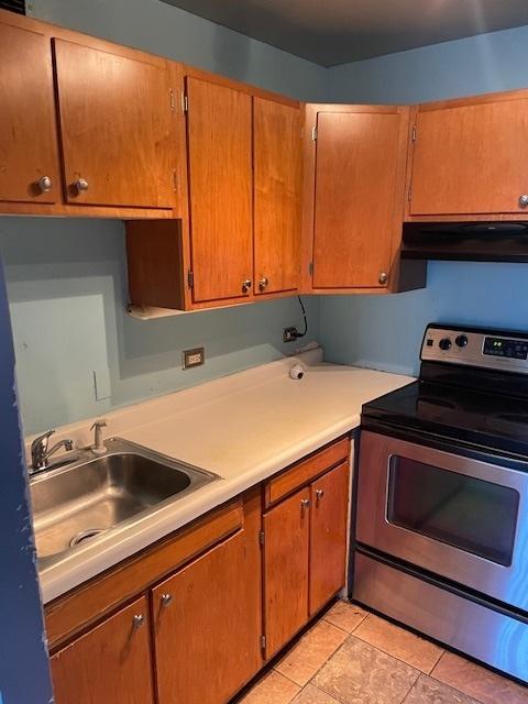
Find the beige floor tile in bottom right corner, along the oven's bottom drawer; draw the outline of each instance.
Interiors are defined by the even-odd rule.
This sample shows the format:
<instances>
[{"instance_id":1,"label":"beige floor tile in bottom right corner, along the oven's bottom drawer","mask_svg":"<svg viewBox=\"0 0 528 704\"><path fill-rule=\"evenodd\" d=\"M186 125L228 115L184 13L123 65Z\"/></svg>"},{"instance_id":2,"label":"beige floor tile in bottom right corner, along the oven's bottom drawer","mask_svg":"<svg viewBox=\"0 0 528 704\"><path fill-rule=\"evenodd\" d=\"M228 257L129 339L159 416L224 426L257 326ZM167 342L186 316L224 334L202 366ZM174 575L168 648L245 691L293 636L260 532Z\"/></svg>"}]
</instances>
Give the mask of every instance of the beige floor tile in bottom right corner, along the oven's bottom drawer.
<instances>
[{"instance_id":1,"label":"beige floor tile in bottom right corner, along the oven's bottom drawer","mask_svg":"<svg viewBox=\"0 0 528 704\"><path fill-rule=\"evenodd\" d=\"M482 704L528 704L528 688L446 652L432 676L473 696Z\"/></svg>"}]
</instances>

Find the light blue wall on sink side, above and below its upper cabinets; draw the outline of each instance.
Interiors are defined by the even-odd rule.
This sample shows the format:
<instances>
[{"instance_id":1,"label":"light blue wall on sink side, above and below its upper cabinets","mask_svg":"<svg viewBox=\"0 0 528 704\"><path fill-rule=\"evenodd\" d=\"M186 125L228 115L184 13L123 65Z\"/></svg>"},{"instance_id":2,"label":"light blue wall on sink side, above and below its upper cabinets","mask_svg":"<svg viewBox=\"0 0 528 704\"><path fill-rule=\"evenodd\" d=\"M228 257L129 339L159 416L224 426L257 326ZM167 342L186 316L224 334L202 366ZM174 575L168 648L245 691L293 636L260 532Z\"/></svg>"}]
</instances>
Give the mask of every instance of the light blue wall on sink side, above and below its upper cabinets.
<instances>
[{"instance_id":1,"label":"light blue wall on sink side, above and below its upper cabinets","mask_svg":"<svg viewBox=\"0 0 528 704\"><path fill-rule=\"evenodd\" d=\"M326 70L160 0L33 0L40 19L167 55L297 98L323 99ZM120 221L0 218L24 432L189 386L292 352L296 298L150 322L124 312ZM318 301L307 301L308 339ZM308 340L307 340L308 341ZM182 350L206 346L183 372ZM94 371L108 398L96 400Z\"/></svg>"}]
</instances>

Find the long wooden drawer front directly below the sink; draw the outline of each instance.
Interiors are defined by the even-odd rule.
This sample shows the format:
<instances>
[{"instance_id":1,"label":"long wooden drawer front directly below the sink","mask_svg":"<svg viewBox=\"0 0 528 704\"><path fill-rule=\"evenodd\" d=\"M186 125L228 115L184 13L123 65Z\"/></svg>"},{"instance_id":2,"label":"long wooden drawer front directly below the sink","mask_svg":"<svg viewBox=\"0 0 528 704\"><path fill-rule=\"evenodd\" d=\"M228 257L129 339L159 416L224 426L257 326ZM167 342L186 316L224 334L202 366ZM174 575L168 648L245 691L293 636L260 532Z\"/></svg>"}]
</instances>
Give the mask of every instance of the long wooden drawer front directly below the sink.
<instances>
[{"instance_id":1,"label":"long wooden drawer front directly below the sink","mask_svg":"<svg viewBox=\"0 0 528 704\"><path fill-rule=\"evenodd\" d=\"M46 607L50 648L95 623L124 600L164 578L244 524L242 503L234 502L185 528L179 535L95 578Z\"/></svg>"}]
</instances>

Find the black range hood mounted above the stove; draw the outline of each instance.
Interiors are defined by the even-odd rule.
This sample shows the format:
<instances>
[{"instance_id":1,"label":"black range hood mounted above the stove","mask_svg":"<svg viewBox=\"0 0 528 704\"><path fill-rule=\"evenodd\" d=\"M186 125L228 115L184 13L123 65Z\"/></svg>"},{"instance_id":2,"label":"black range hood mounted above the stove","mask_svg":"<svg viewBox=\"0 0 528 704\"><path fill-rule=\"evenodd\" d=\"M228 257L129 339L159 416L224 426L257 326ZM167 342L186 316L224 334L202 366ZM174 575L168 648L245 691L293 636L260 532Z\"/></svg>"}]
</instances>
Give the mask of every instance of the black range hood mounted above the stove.
<instances>
[{"instance_id":1,"label":"black range hood mounted above the stove","mask_svg":"<svg viewBox=\"0 0 528 704\"><path fill-rule=\"evenodd\" d=\"M528 262L528 220L405 222L402 258Z\"/></svg>"}]
</instances>

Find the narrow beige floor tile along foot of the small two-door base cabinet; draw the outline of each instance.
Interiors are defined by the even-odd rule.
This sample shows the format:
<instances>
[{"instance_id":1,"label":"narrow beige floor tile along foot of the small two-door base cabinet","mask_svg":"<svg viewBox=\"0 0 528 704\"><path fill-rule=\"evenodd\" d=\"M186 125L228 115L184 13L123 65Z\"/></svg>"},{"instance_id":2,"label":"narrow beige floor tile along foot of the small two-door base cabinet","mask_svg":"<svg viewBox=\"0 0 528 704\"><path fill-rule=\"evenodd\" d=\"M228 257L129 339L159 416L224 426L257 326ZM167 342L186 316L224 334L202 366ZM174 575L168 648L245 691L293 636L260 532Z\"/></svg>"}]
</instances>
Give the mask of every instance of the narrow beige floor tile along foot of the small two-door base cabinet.
<instances>
[{"instance_id":1,"label":"narrow beige floor tile along foot of the small two-door base cabinet","mask_svg":"<svg viewBox=\"0 0 528 704\"><path fill-rule=\"evenodd\" d=\"M346 634L324 620L318 622L275 666L297 684L305 685L346 638Z\"/></svg>"}]
</instances>

